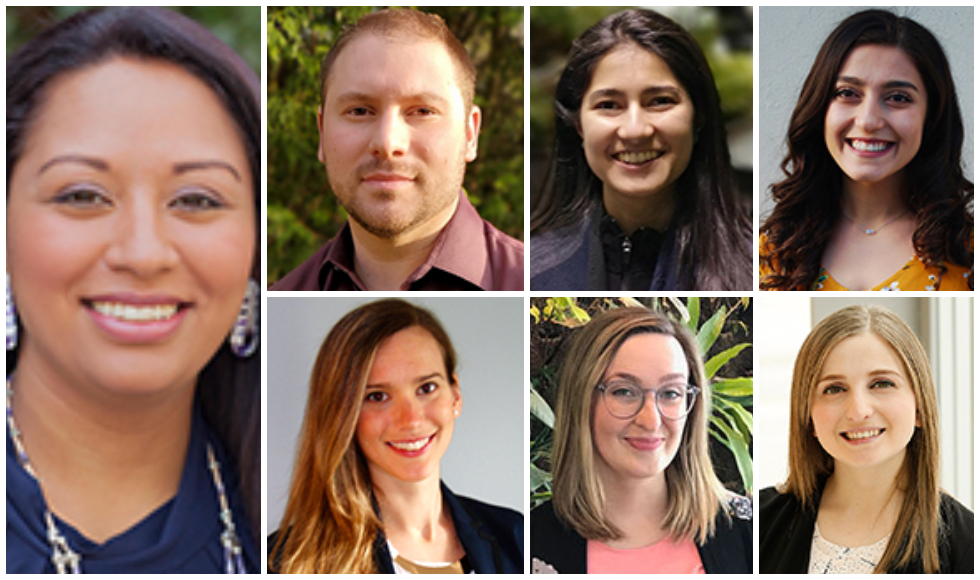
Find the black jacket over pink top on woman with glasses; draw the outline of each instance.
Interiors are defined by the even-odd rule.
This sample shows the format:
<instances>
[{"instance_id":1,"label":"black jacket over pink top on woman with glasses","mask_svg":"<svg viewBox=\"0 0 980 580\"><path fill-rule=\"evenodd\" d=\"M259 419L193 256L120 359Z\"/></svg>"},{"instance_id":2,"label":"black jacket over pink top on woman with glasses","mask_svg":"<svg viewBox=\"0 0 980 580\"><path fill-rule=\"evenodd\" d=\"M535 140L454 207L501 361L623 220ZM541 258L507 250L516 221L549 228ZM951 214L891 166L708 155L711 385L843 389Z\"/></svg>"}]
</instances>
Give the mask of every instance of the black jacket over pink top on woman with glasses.
<instances>
[{"instance_id":1,"label":"black jacket over pink top on woman with glasses","mask_svg":"<svg viewBox=\"0 0 980 580\"><path fill-rule=\"evenodd\" d=\"M729 517L730 516L730 520ZM698 546L707 574L752 573L752 503L744 497L729 500L728 516L718 514L715 535ZM561 574L585 574L586 539L558 519L551 503L531 512L531 556Z\"/></svg>"}]
</instances>

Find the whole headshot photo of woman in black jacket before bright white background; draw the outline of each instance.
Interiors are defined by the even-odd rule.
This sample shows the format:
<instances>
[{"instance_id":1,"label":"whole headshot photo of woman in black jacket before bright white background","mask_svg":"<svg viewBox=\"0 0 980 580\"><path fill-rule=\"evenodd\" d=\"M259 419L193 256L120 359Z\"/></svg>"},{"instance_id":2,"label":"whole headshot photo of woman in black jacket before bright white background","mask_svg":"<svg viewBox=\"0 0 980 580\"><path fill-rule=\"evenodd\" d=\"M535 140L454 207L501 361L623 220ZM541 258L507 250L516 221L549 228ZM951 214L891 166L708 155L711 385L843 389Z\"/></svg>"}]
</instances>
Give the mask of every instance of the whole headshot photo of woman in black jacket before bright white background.
<instances>
[{"instance_id":1,"label":"whole headshot photo of woman in black jacket before bright white background","mask_svg":"<svg viewBox=\"0 0 980 580\"><path fill-rule=\"evenodd\" d=\"M973 573L972 298L759 298L760 572Z\"/></svg>"}]
</instances>

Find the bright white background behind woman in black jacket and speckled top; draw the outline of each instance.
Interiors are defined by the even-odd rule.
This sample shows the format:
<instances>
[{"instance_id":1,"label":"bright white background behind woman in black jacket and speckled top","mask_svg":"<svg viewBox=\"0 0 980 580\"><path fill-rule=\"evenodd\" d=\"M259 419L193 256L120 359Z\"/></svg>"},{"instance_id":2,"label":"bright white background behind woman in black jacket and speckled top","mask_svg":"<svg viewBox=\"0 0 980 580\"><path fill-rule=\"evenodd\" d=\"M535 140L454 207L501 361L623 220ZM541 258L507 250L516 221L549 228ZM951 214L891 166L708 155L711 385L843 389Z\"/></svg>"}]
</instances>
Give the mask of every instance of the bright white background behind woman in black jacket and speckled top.
<instances>
[{"instance_id":1,"label":"bright white background behind woman in black jacket and speckled top","mask_svg":"<svg viewBox=\"0 0 980 580\"><path fill-rule=\"evenodd\" d=\"M880 304L912 327L929 353L939 399L943 488L973 507L973 299L809 297L771 292L755 300L755 485L787 475L793 364L810 329L851 304Z\"/></svg>"}]
</instances>

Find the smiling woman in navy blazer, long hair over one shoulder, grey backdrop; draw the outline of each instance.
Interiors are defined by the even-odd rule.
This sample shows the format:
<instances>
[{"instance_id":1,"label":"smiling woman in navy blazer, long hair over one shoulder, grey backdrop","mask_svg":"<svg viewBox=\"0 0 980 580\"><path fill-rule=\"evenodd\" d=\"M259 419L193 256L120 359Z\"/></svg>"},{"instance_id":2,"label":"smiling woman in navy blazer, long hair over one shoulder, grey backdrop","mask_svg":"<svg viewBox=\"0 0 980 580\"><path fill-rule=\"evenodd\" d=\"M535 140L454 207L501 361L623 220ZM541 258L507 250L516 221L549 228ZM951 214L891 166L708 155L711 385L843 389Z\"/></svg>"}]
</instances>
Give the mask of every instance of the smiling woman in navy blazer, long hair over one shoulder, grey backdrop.
<instances>
[{"instance_id":1,"label":"smiling woman in navy blazer, long hair over one shoulder, grey backdrop","mask_svg":"<svg viewBox=\"0 0 980 580\"><path fill-rule=\"evenodd\" d=\"M439 321L402 300L333 326L313 364L270 572L523 571L523 517L442 482L463 407L456 363Z\"/></svg>"}]
</instances>

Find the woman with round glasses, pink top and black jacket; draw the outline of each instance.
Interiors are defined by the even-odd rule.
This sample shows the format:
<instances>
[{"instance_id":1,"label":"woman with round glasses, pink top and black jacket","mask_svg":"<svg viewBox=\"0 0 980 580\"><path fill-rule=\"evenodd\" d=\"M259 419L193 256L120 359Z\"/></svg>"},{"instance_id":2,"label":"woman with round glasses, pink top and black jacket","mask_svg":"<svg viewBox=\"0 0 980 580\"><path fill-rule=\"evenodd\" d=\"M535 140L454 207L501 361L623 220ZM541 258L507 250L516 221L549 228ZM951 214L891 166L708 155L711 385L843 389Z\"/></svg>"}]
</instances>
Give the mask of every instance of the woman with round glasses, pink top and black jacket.
<instances>
[{"instance_id":1,"label":"woman with round glasses, pink top and black jacket","mask_svg":"<svg viewBox=\"0 0 980 580\"><path fill-rule=\"evenodd\" d=\"M646 308L597 315L559 382L552 501L531 512L532 572L752 571L752 505L708 452L711 387L697 342Z\"/></svg>"}]
</instances>

